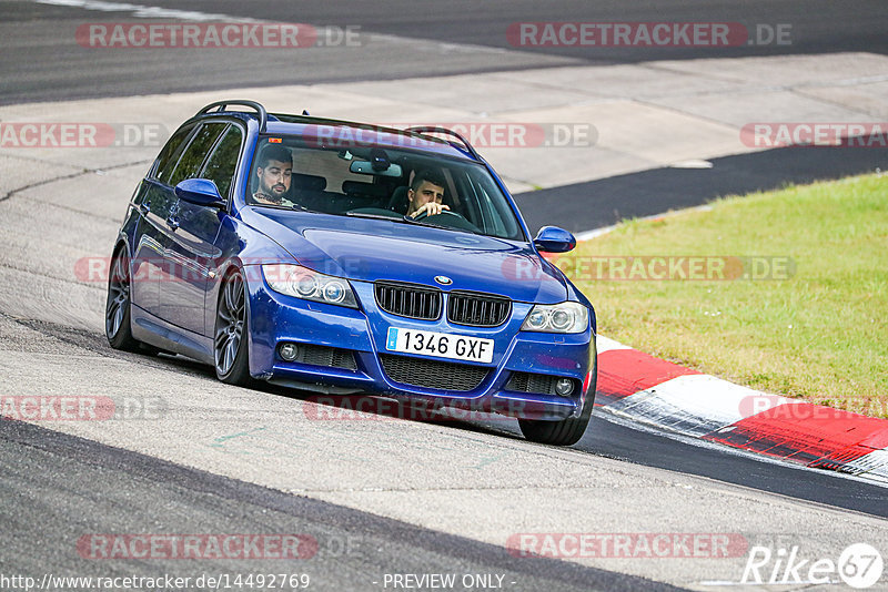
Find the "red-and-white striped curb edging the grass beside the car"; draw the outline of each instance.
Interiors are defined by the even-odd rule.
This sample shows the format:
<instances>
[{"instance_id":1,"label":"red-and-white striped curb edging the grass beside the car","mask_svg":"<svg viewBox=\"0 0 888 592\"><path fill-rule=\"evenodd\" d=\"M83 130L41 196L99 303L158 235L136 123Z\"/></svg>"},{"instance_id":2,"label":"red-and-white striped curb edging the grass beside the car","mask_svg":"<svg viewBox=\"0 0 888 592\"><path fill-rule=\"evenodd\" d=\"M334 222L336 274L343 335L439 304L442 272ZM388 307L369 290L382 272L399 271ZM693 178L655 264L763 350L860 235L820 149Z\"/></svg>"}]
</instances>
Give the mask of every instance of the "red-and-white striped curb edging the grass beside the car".
<instances>
[{"instance_id":1,"label":"red-and-white striped curb edging the grass beside the car","mask_svg":"<svg viewBox=\"0 0 888 592\"><path fill-rule=\"evenodd\" d=\"M596 407L633 421L888 483L888 420L768 395L599 337Z\"/></svg>"}]
</instances>

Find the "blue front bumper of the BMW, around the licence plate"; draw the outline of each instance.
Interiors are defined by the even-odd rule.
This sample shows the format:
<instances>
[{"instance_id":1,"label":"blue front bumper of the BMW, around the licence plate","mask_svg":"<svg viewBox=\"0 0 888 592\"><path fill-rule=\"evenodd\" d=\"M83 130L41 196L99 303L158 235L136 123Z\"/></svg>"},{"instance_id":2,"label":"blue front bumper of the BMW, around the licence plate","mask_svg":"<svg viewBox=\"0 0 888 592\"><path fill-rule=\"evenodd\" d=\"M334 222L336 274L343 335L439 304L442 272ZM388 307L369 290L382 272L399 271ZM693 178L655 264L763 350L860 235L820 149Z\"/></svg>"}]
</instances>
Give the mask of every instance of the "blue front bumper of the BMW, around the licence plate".
<instances>
[{"instance_id":1,"label":"blue front bumper of the BMW, around the licence plate","mask_svg":"<svg viewBox=\"0 0 888 592\"><path fill-rule=\"evenodd\" d=\"M264 280L248 283L251 375L325 394L376 394L526 419L575 417L585 399L594 397L594 392L586 392L595 355L591 329L574 335L522 331L521 325L532 307L524 303L514 303L509 320L494 328L450 325L446 318L427 321L397 317L376 307L373 284L351 284L360 309L285 296L271 290ZM477 364L387 353L385 335L391 326L493 339L494 358L491 364ZM322 355L312 356L310 363L285 361L278 353L282 341ZM381 354L397 356L395 361L403 363L401 367L415 367L417 375L436 375L434 387L424 386L422 379L404 378L403 372L401 380L393 378L392 358L384 361ZM385 363L390 364L390 371ZM467 390L455 390L444 386L447 379L442 377L453 376L448 372L483 377ZM569 396L532 392L527 387L516 387L523 385L517 380L518 372L543 377L544 382L546 377L569 378L575 388Z\"/></svg>"}]
</instances>

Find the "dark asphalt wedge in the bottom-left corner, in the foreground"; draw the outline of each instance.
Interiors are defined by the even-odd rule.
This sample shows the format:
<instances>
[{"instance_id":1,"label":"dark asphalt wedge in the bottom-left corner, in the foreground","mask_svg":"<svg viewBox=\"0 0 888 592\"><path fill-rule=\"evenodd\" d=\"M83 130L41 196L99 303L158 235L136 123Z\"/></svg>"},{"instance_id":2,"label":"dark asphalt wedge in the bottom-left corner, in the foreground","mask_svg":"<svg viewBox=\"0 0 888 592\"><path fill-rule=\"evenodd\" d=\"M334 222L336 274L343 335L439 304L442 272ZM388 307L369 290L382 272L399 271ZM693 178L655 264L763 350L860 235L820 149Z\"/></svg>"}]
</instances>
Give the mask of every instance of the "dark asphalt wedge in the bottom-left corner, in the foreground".
<instances>
[{"instance_id":1,"label":"dark asphalt wedge in the bottom-left corner, in the foreground","mask_svg":"<svg viewBox=\"0 0 888 592\"><path fill-rule=\"evenodd\" d=\"M491 573L524 590L647 591L673 586L544 558L516 558L502 548L433 532L341 506L289 496L243 481L159 461L19 421L0 421L0 518L6 568L24 573L73 568L94 572L72 558L72 532L93 533L274 532L314 533L304 561L287 561L289 573L305 573L311 589L381 588L384 573ZM132 498L139 500L138 506ZM68 500L60 512L59 498ZM51 517L51 519L48 519ZM10 537L14 533L14 538ZM73 537L77 539L77 537ZM314 551L313 555L310 553ZM9 555L14 560L9 561ZM44 558L68 558L48 564ZM93 561L94 563L94 561ZM107 561L102 576L179 578L228 573L230 560ZM270 559L238 561L243 573L280 573ZM4 570L6 571L6 570Z\"/></svg>"}]
</instances>

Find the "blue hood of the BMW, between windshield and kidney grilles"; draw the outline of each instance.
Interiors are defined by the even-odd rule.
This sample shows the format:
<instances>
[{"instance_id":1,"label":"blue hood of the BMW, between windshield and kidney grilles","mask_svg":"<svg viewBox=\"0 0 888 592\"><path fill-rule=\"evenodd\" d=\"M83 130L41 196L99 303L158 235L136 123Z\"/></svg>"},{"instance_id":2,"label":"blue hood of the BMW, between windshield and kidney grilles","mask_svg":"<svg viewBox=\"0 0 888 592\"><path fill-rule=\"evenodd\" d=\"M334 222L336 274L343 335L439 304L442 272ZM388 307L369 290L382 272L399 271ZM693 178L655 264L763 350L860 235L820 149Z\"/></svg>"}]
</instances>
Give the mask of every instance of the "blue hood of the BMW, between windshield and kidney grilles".
<instances>
[{"instance_id":1,"label":"blue hood of the BMW, between windshield and kidney grilles","mask_svg":"<svg viewBox=\"0 0 888 592\"><path fill-rule=\"evenodd\" d=\"M393 280L486 292L517 302L558 303L561 272L528 243L385 220L245 208L244 222L305 267L360 282ZM446 276L451 285L436 284Z\"/></svg>"}]
</instances>

